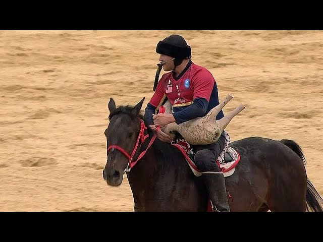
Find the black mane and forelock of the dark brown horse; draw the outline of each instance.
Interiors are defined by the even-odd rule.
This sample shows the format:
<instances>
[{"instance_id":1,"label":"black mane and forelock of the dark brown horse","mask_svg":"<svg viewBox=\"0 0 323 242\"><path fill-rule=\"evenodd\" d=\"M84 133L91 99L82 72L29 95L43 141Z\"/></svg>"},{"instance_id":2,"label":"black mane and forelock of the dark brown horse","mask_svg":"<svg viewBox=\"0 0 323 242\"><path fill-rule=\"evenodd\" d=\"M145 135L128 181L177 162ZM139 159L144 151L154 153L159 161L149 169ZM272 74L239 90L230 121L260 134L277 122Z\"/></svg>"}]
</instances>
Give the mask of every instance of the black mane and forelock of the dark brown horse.
<instances>
[{"instance_id":1,"label":"black mane and forelock of the dark brown horse","mask_svg":"<svg viewBox=\"0 0 323 242\"><path fill-rule=\"evenodd\" d=\"M109 120L111 120L111 118L114 115L121 114L121 113L130 115L132 119L139 117L142 120L144 120L145 126L147 127L147 131L149 134L149 138L151 139L154 135L154 131L150 129L149 124L144 119L143 111L140 111L138 115L135 115L132 112L132 109L133 109L133 106L131 105L119 106L109 114ZM181 164L180 159L183 159L183 156L180 153L180 151L177 152L176 147L168 143L165 143L163 141L160 141L158 138L155 139L151 147L155 151L156 155L154 158L156 159L156 162L160 165L159 167L161 171L162 170L167 171L168 168L179 166Z\"/></svg>"}]
</instances>

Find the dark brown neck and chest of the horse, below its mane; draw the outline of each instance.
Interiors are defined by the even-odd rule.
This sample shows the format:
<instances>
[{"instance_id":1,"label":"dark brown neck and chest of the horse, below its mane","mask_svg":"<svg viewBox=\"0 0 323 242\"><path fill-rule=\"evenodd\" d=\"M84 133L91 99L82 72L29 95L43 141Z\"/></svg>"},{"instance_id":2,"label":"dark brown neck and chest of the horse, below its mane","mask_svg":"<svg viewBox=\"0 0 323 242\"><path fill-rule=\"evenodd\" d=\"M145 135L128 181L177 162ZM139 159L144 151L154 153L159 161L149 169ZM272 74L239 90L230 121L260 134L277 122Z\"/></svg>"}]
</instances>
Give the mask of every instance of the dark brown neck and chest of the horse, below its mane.
<instances>
[{"instance_id":1,"label":"dark brown neck and chest of the horse, below its mane","mask_svg":"<svg viewBox=\"0 0 323 242\"><path fill-rule=\"evenodd\" d=\"M172 151L166 149L165 152ZM158 157L159 152L155 152L154 147L147 150L127 173L135 211L163 211L170 208L189 211L196 209L195 206L203 207L205 201L198 199L201 198L201 189L196 186L194 176L180 152L161 157ZM187 201L188 195L192 197L190 201ZM174 196L178 199L172 199Z\"/></svg>"}]
</instances>

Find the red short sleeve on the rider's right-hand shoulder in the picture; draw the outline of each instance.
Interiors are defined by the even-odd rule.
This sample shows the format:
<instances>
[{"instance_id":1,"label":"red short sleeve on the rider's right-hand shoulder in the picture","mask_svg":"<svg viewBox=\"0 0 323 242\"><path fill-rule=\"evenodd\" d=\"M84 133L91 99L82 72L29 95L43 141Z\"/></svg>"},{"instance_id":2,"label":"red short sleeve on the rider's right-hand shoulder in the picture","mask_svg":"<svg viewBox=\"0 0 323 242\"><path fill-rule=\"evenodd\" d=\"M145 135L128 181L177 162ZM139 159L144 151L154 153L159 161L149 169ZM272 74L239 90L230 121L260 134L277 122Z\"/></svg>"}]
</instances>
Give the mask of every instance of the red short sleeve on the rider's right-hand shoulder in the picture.
<instances>
[{"instance_id":1,"label":"red short sleeve on the rider's right-hand shoulder in the picture","mask_svg":"<svg viewBox=\"0 0 323 242\"><path fill-rule=\"evenodd\" d=\"M204 69L197 72L192 80L193 99L204 98L209 101L215 82L216 80L209 71Z\"/></svg>"}]
</instances>

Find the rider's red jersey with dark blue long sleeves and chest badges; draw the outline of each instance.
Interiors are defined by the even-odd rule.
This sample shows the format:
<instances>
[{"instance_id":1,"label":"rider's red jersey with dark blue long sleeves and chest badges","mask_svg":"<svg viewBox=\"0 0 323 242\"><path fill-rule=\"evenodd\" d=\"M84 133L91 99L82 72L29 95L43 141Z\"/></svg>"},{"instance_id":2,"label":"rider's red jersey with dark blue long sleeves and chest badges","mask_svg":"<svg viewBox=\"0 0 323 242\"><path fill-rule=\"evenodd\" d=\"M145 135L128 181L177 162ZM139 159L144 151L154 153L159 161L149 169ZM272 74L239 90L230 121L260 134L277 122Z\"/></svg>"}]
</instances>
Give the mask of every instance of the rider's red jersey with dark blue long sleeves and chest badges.
<instances>
[{"instance_id":1,"label":"rider's red jersey with dark blue long sleeves and chest badges","mask_svg":"<svg viewBox=\"0 0 323 242\"><path fill-rule=\"evenodd\" d=\"M206 68L190 61L177 78L173 72L166 73L160 78L146 111L154 109L155 113L166 98L172 104L176 123L181 124L192 118L204 116L219 104L217 82ZM216 119L223 116L221 110ZM149 120L151 121L152 117L151 119L149 117Z\"/></svg>"}]
</instances>

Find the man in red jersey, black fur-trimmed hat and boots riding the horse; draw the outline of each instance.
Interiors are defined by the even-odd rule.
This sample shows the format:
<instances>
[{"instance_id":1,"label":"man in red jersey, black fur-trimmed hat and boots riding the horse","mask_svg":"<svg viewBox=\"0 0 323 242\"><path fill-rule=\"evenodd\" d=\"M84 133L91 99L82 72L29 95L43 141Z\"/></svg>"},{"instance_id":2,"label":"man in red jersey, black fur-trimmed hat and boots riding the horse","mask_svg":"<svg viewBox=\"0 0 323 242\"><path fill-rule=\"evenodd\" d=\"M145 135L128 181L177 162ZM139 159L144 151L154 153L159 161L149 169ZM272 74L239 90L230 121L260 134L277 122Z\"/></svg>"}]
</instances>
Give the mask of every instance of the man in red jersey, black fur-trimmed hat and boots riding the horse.
<instances>
[{"instance_id":1,"label":"man in red jersey, black fur-trimmed hat and boots riding the horse","mask_svg":"<svg viewBox=\"0 0 323 242\"><path fill-rule=\"evenodd\" d=\"M204 67L191 60L191 47L180 35L171 35L158 42L156 52L160 54L159 70L156 73L154 94L145 108L145 122L151 129L176 122L181 124L206 115L219 104L217 82ZM161 67L168 72L159 78ZM158 108L169 100L173 113L157 113ZM224 117L221 110L216 119ZM170 136L159 129L157 137L172 143ZM219 140L209 145L192 145L194 162L201 171L213 211L230 211L225 178L216 163L225 147L225 131Z\"/></svg>"}]
</instances>

